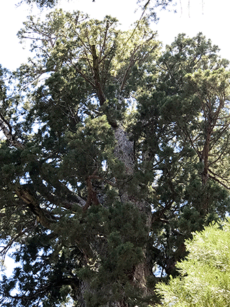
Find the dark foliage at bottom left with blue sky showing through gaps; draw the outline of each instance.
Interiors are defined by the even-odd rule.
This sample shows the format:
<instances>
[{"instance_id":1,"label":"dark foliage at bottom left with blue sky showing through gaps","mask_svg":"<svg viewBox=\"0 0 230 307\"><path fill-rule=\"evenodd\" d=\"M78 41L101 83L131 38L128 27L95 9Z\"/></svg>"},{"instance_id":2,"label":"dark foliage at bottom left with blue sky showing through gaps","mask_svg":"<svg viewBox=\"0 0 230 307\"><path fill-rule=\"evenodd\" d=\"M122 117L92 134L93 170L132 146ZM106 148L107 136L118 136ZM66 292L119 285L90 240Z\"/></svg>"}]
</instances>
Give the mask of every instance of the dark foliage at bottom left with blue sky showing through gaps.
<instances>
[{"instance_id":1,"label":"dark foliage at bottom left with blue sky showing through gaps","mask_svg":"<svg viewBox=\"0 0 230 307\"><path fill-rule=\"evenodd\" d=\"M76 268L76 258L81 252L72 250L70 258L59 252L57 258L53 258L53 233L47 234L46 230L37 228L27 239L27 243L21 244L14 252L13 258L20 263L14 269L13 276L3 276L1 282L1 295L6 297L14 291L17 280L17 295L2 300L3 306L31 306L42 299L43 306L59 306L60 302L68 299L71 289L66 284L67 280L74 282L76 276L70 273ZM53 261L52 261L53 259ZM24 295L27 293L27 295Z\"/></svg>"}]
</instances>

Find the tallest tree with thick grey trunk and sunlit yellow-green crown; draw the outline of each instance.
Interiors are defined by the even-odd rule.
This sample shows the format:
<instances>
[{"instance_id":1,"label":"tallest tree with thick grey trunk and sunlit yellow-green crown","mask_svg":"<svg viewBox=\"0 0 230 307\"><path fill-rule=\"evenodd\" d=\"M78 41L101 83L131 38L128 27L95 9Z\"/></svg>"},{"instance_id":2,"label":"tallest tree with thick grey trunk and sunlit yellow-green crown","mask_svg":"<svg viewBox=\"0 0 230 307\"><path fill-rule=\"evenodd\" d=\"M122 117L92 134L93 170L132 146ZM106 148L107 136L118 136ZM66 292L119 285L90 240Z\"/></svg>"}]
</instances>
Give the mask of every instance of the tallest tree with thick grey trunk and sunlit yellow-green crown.
<instances>
[{"instance_id":1,"label":"tallest tree with thick grey trunk and sunlit yellow-green crown","mask_svg":"<svg viewBox=\"0 0 230 307\"><path fill-rule=\"evenodd\" d=\"M126 98L144 73L141 64L154 60L158 42L144 21L134 34L116 25L109 16L92 21L58 10L44 23L30 18L19 33L31 38L36 58L16 74L20 87L34 84L23 108L18 104L20 120L14 128L1 120L7 138L1 225L11 229L3 239L7 250L20 238L15 257L24 263L15 271L23 282L11 298L14 306L40 299L55 306L64 286L81 306L126 306L127 297L149 295L144 259L151 207L141 187L132 191L134 143L121 123ZM42 76L46 80L36 85ZM35 260L40 252L42 263ZM3 284L3 296L10 297L14 283Z\"/></svg>"}]
</instances>

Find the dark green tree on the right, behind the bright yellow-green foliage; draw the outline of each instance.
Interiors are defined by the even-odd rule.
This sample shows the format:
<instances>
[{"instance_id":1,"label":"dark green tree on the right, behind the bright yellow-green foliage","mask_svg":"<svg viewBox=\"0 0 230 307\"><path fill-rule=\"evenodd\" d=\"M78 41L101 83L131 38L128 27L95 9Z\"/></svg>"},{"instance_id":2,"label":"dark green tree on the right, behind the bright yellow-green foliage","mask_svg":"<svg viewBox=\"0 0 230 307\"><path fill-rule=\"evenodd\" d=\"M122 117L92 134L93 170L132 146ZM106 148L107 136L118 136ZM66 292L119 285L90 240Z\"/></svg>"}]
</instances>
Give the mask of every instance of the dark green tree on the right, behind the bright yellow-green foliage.
<instances>
[{"instance_id":1,"label":"dark green tree on the right, behind the bright yellow-green foliage","mask_svg":"<svg viewBox=\"0 0 230 307\"><path fill-rule=\"evenodd\" d=\"M179 35L138 98L134 138L143 172L152 170L152 252L162 273L173 273L192 231L229 211L229 72L217 51L202 34Z\"/></svg>"}]
</instances>

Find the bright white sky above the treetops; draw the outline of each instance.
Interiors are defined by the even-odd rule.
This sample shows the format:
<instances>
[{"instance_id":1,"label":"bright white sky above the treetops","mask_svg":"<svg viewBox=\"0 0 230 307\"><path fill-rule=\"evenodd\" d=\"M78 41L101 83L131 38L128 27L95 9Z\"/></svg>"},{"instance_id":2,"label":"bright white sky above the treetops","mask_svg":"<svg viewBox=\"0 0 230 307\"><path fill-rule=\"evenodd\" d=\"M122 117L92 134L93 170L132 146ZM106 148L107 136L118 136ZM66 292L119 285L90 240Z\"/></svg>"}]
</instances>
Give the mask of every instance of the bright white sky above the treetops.
<instances>
[{"instance_id":1,"label":"bright white sky above the treetops","mask_svg":"<svg viewBox=\"0 0 230 307\"><path fill-rule=\"evenodd\" d=\"M199 31L217 44L222 57L230 59L229 51L229 0L180 0L177 5L177 14L173 12L160 12L158 25L153 24L158 31L158 39L164 44L171 44L179 33L195 36ZM177 0L177 2L180 2ZM23 21L30 14L39 15L38 9L23 4L18 8L16 3L20 0L1 0L0 3L0 64L10 70L16 69L20 63L26 62L29 52L23 49L16 37L17 31L22 27ZM218 4L216 4L218 3ZM106 14L119 19L124 29L139 19L141 12L136 9L136 0L61 0L59 7L65 10L81 10L87 12L92 18L103 18ZM43 12L44 15L46 12ZM203 13L203 14L202 14Z\"/></svg>"}]
</instances>

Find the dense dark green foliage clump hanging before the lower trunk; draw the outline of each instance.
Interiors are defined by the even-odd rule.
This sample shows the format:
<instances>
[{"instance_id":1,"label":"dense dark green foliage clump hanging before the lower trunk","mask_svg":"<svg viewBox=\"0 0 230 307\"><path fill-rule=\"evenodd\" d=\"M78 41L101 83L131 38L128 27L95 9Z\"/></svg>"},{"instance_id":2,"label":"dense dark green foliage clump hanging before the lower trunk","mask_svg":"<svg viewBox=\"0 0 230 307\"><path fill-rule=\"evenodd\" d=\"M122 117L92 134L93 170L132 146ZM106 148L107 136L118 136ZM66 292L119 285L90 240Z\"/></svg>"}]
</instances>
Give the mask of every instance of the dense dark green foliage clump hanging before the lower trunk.
<instances>
[{"instance_id":1,"label":"dense dark green foliage clump hanging before the lower trunk","mask_svg":"<svg viewBox=\"0 0 230 307\"><path fill-rule=\"evenodd\" d=\"M109 208L109 212L92 208L89 225L100 228L98 237L102 240L102 250L100 259L92 258L90 269L85 267L79 272L81 277L89 280L93 289L94 304L88 293L88 306L112 303L125 297L130 298L130 303L132 299L135 302L139 291L130 281L135 265L143 258L145 217L130 204L117 203ZM89 231L93 235L95 230L90 228Z\"/></svg>"}]
</instances>

